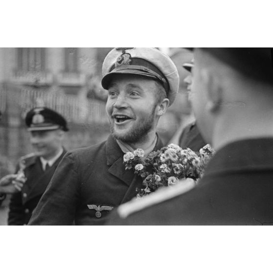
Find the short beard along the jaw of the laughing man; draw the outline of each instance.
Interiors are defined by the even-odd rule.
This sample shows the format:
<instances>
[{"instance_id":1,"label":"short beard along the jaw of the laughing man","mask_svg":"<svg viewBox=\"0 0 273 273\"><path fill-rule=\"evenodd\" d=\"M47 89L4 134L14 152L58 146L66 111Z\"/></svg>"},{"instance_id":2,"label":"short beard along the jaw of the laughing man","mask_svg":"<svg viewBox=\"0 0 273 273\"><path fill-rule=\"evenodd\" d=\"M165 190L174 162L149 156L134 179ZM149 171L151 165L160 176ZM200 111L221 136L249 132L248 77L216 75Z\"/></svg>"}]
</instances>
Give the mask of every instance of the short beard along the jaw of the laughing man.
<instances>
[{"instance_id":1,"label":"short beard along the jaw of the laughing man","mask_svg":"<svg viewBox=\"0 0 273 273\"><path fill-rule=\"evenodd\" d=\"M110 132L114 138L126 143L137 143L145 140L148 137L148 133L151 131L154 125L156 106L151 114L146 116L142 122L135 124L130 131L124 135L116 134L114 131L114 124L110 126Z\"/></svg>"}]
</instances>

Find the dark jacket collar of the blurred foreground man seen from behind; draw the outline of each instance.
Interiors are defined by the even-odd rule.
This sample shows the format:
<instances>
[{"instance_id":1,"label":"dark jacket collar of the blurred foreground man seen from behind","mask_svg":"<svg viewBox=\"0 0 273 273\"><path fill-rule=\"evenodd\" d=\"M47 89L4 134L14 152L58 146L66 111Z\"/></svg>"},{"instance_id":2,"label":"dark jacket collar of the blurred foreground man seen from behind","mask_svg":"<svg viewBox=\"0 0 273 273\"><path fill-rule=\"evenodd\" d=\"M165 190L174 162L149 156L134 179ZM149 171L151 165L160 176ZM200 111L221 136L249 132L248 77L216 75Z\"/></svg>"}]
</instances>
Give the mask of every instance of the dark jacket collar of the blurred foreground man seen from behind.
<instances>
[{"instance_id":1,"label":"dark jacket collar of the blurred foreground man seen from behind","mask_svg":"<svg viewBox=\"0 0 273 273\"><path fill-rule=\"evenodd\" d=\"M223 172L273 170L273 138L244 139L220 149L208 163L205 176Z\"/></svg>"}]
</instances>

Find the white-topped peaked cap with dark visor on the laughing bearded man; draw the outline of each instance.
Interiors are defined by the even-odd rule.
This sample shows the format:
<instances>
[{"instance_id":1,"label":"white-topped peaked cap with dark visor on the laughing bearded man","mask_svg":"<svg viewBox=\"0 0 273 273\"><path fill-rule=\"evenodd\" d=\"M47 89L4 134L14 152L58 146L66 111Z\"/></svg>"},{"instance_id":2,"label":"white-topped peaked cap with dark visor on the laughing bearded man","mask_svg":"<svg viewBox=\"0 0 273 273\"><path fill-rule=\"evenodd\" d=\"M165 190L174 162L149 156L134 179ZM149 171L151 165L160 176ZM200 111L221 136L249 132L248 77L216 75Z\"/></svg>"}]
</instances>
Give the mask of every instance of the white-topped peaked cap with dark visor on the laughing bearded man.
<instances>
[{"instance_id":1,"label":"white-topped peaked cap with dark visor on the laughing bearded man","mask_svg":"<svg viewBox=\"0 0 273 273\"><path fill-rule=\"evenodd\" d=\"M171 58L154 47L116 47L102 65L101 85L108 89L116 74L135 74L159 81L173 103L179 88L179 74Z\"/></svg>"}]
</instances>

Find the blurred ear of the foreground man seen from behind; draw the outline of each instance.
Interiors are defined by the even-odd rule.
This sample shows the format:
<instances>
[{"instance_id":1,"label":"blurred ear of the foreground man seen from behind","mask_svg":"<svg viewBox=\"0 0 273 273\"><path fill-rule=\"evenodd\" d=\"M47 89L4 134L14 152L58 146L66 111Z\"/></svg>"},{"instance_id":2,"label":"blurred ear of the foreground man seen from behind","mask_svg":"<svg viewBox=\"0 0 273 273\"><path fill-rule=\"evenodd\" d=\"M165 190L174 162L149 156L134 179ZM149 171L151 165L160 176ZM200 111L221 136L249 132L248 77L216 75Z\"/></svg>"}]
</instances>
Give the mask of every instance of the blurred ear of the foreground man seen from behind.
<instances>
[{"instance_id":1,"label":"blurred ear of the foreground man seen from behind","mask_svg":"<svg viewBox=\"0 0 273 273\"><path fill-rule=\"evenodd\" d=\"M216 113L221 109L223 104L223 89L219 78L206 69L201 71L201 77L207 101L205 108L210 113Z\"/></svg>"}]
</instances>

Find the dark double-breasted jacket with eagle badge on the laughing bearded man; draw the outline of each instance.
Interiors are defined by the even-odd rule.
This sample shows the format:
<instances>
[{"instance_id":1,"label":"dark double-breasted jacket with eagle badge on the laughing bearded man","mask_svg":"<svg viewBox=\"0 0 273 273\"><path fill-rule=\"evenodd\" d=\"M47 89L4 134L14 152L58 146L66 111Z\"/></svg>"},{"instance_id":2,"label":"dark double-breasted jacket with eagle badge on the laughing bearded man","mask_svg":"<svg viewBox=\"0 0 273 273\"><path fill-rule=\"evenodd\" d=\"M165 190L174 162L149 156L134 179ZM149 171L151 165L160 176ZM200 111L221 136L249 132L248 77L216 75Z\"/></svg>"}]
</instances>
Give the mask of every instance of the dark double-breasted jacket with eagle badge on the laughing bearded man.
<instances>
[{"instance_id":1,"label":"dark double-breasted jacket with eagle badge on the laughing bearded man","mask_svg":"<svg viewBox=\"0 0 273 273\"><path fill-rule=\"evenodd\" d=\"M155 149L162 147L158 138ZM114 137L67 153L33 212L30 225L103 225L109 212L137 195L142 179L125 170Z\"/></svg>"}]
</instances>

